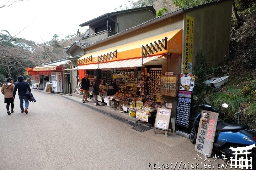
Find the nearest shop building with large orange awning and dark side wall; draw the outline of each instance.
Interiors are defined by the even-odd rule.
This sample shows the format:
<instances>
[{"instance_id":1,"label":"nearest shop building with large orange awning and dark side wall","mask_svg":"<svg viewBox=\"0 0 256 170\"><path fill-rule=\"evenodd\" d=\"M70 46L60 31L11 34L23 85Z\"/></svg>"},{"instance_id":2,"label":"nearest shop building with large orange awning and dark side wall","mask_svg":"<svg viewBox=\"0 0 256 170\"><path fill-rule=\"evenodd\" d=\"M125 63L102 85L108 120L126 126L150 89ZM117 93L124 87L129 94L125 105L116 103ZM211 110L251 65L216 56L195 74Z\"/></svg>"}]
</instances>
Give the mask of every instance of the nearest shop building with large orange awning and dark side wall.
<instances>
[{"instance_id":1,"label":"nearest shop building with large orange awning and dark side wall","mask_svg":"<svg viewBox=\"0 0 256 170\"><path fill-rule=\"evenodd\" d=\"M231 0L219 0L167 13L85 46L85 55L71 70L79 70L79 77L105 79L109 85L101 85L101 102L129 108L143 101L152 110L172 103L175 118L180 77L193 71L200 49L212 52L207 58L212 66L228 57L231 11ZM113 77L115 95L109 93Z\"/></svg>"}]
</instances>

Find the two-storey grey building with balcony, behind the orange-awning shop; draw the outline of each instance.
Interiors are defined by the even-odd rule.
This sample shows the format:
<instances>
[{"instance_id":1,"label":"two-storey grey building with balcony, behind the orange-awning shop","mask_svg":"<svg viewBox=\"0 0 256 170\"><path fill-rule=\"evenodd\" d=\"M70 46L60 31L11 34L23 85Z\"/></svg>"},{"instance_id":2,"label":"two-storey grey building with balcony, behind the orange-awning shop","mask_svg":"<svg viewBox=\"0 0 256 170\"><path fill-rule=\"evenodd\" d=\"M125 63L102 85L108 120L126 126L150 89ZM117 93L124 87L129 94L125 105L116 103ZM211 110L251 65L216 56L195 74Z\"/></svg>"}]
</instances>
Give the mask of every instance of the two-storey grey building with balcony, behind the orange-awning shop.
<instances>
[{"instance_id":1,"label":"two-storey grey building with balcony, behind the orange-awning shop","mask_svg":"<svg viewBox=\"0 0 256 170\"><path fill-rule=\"evenodd\" d=\"M71 61L71 68L77 67L77 59L85 54L83 50L85 46L149 21L155 18L155 13L156 11L153 6L147 6L106 13L80 24L80 27L89 26L88 32L82 37L79 34L80 41L75 41L70 46L64 48L70 55L67 59ZM70 88L72 94L74 94L75 88L77 88L79 81L81 81L81 73L79 74L79 70L66 71L72 75ZM81 96L78 95L78 97Z\"/></svg>"}]
</instances>

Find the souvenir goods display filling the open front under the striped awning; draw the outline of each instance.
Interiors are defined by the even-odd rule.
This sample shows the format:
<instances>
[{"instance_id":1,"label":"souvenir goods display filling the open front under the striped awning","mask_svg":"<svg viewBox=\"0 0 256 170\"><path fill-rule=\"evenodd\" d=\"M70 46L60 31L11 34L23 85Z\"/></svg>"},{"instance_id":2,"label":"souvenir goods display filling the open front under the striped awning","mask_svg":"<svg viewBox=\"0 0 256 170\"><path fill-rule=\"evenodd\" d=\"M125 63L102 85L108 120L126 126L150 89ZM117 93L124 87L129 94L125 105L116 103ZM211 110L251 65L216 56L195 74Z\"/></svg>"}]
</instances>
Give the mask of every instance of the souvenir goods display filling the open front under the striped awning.
<instances>
[{"instance_id":1,"label":"souvenir goods display filling the open front under the striped awning","mask_svg":"<svg viewBox=\"0 0 256 170\"><path fill-rule=\"evenodd\" d=\"M129 113L130 117L154 125L158 107L167 107L165 97L176 97L177 76L166 72L162 75L162 66L116 69L117 92L114 95L100 93L98 101ZM112 77L112 78L113 78ZM138 122L137 121L137 122Z\"/></svg>"}]
</instances>

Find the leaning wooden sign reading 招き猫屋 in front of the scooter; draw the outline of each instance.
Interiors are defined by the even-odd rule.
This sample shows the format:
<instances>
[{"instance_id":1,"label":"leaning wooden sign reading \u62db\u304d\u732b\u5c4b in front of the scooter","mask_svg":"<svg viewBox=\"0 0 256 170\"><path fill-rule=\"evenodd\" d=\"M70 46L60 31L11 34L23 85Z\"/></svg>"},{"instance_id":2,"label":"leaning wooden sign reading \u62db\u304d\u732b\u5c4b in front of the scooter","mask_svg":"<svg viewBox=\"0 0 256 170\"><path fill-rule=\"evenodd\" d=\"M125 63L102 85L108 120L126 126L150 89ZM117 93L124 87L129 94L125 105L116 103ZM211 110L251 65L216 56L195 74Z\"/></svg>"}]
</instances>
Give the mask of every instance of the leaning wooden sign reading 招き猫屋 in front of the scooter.
<instances>
[{"instance_id":1,"label":"leaning wooden sign reading \u62db\u304d\u732b\u5c4b in front of the scooter","mask_svg":"<svg viewBox=\"0 0 256 170\"><path fill-rule=\"evenodd\" d=\"M218 117L219 113L202 110L195 150L209 157L212 155Z\"/></svg>"}]
</instances>

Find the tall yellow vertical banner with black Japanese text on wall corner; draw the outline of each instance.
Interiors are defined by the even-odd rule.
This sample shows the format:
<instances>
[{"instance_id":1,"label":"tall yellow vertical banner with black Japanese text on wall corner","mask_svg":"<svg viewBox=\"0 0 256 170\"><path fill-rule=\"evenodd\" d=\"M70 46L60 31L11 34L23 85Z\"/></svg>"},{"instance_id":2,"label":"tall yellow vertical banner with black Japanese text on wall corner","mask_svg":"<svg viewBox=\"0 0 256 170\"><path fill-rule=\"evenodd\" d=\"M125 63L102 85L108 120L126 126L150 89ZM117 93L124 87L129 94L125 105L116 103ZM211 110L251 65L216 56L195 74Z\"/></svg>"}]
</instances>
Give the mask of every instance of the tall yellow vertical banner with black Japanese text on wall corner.
<instances>
[{"instance_id":1,"label":"tall yellow vertical banner with black Japanese text on wall corner","mask_svg":"<svg viewBox=\"0 0 256 170\"><path fill-rule=\"evenodd\" d=\"M186 15L184 73L192 72L194 18Z\"/></svg>"}]
</instances>

